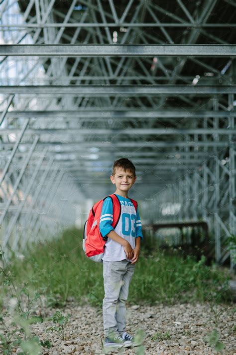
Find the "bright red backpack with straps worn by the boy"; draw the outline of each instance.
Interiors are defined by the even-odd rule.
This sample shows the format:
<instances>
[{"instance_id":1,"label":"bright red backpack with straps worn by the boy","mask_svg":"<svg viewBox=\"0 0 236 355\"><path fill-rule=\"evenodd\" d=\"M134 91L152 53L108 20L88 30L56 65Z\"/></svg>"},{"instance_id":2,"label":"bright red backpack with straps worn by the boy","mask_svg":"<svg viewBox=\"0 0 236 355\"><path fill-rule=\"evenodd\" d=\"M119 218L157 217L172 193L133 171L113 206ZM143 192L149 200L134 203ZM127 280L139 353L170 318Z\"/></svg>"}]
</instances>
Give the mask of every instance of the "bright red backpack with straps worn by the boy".
<instances>
[{"instance_id":1,"label":"bright red backpack with straps worn by the boy","mask_svg":"<svg viewBox=\"0 0 236 355\"><path fill-rule=\"evenodd\" d=\"M115 229L121 214L121 206L116 194L111 194L105 197L103 200L96 202L89 212L89 217L84 225L83 236L83 250L86 256L93 261L103 262L102 257L104 255L104 247L108 237L103 237L100 229L100 217L102 213L103 201L111 197L113 201L113 223L112 227ZM137 201L130 198L133 206L137 212Z\"/></svg>"}]
</instances>

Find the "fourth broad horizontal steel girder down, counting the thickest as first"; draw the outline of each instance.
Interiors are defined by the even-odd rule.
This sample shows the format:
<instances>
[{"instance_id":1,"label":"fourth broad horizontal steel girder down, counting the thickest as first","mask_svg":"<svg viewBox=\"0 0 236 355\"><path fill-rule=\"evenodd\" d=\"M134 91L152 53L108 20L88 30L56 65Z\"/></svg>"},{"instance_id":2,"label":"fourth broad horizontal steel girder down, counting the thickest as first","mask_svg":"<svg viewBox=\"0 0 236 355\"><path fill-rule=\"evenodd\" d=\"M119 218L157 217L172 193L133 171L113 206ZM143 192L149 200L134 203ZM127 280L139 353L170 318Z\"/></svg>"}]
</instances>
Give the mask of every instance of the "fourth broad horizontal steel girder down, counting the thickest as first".
<instances>
[{"instance_id":1,"label":"fourth broad horizontal steel girder down, counting the thickest as first","mask_svg":"<svg viewBox=\"0 0 236 355\"><path fill-rule=\"evenodd\" d=\"M19 133L21 132L20 128L0 128L0 134L2 133L7 133L7 134L12 134L12 133ZM192 129L184 129L184 128L126 128L126 129L99 129L99 128L28 128L25 131L26 135L27 133L29 134L63 134L63 136L66 133L70 133L70 136L72 133L75 134L82 134L82 135L90 135L90 134L127 134L127 135L133 135L133 134L139 134L139 135L144 135L144 134L236 134L236 128L229 128L229 129L224 129L224 128L192 128ZM70 136L68 139L70 139ZM66 139L66 137L64 138Z\"/></svg>"}]
</instances>

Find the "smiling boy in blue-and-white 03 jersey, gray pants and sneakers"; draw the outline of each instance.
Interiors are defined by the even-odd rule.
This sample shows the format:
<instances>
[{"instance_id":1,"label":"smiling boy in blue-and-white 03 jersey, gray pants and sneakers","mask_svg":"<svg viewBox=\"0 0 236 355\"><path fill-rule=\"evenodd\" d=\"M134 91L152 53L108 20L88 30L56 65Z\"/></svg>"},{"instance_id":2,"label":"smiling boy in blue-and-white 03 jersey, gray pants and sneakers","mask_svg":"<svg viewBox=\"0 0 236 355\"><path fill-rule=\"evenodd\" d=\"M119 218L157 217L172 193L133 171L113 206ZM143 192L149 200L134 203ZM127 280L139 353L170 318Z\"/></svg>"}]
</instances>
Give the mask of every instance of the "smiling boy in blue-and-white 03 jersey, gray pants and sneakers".
<instances>
[{"instance_id":1,"label":"smiling boy in blue-and-white 03 jersey, gray pants and sneakers","mask_svg":"<svg viewBox=\"0 0 236 355\"><path fill-rule=\"evenodd\" d=\"M133 203L127 196L136 181L135 167L126 158L118 159L114 162L110 178L112 183L116 184L115 194L120 201L121 214L118 225L114 229L111 225L112 199L108 197L104 200L99 225L102 236L108 236L103 255L104 346L127 348L140 345L134 343L134 337L125 332L125 301L135 263L139 257L140 241L143 239L138 208L136 213Z\"/></svg>"}]
</instances>

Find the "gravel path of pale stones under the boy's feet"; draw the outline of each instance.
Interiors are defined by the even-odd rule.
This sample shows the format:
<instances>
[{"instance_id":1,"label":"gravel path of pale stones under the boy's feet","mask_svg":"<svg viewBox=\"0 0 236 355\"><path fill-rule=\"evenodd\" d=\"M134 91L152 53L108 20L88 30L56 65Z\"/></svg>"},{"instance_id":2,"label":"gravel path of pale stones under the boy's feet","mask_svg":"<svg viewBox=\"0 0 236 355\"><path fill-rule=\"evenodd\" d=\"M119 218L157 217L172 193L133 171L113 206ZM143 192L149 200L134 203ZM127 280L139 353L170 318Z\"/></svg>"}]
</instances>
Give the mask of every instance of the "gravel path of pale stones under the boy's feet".
<instances>
[{"instance_id":1,"label":"gravel path of pale stones under the boy's feet","mask_svg":"<svg viewBox=\"0 0 236 355\"><path fill-rule=\"evenodd\" d=\"M147 306L127 304L127 327L126 331L134 335L138 329L145 331L144 349L145 355L184 355L184 354L225 354L236 355L236 309L235 305L214 306L219 312L227 308L219 317L218 332L220 342L225 344L224 350L219 353L205 341L207 333L216 328L214 324L214 312L208 304L176 304L174 306ZM65 341L59 339L56 333L47 332L45 329L53 325L51 321L32 324L32 334L37 335L41 341L49 340L51 349L43 348L42 354L104 354L102 352L103 315L101 308L92 307L89 304L82 307L74 301L68 302L66 307L61 309L35 309L35 314L42 317L50 317L55 311L63 315L71 315L69 323L65 326ZM161 335L169 332L169 339L151 338L156 334ZM137 347L128 348L122 354L137 354ZM16 353L19 349L14 349ZM121 352L119 350L119 352ZM109 354L117 354L118 350ZM140 354L140 353L139 353Z\"/></svg>"}]
</instances>

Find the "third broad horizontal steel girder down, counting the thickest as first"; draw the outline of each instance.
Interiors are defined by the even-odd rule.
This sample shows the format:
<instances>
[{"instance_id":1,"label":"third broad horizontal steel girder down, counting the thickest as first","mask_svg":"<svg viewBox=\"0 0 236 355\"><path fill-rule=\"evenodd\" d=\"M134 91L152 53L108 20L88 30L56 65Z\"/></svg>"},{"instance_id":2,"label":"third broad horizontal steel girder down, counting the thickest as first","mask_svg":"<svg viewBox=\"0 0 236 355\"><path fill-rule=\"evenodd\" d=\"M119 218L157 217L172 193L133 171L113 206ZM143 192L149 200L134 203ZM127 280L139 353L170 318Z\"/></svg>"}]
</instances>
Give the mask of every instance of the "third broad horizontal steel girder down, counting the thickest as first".
<instances>
[{"instance_id":1,"label":"third broad horizontal steel girder down, counting the thickest as first","mask_svg":"<svg viewBox=\"0 0 236 355\"><path fill-rule=\"evenodd\" d=\"M0 112L1 116L2 112ZM70 117L79 118L203 118L203 117L236 117L236 111L192 111L192 110L130 110L124 107L119 110L87 110L83 107L78 107L77 110L68 111L9 111L6 117Z\"/></svg>"}]
</instances>

